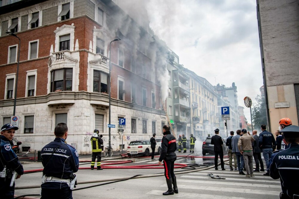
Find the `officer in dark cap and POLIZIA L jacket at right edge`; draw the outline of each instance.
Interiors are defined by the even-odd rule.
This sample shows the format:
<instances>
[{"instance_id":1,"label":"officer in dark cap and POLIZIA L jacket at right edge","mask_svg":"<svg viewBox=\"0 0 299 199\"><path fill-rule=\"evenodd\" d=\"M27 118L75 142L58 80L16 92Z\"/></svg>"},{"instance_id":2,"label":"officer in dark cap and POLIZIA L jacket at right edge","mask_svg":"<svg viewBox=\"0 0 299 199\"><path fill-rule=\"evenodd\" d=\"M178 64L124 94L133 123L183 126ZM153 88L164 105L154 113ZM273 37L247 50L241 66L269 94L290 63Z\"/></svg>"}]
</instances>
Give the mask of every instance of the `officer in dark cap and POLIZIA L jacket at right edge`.
<instances>
[{"instance_id":1,"label":"officer in dark cap and POLIZIA L jacket at right edge","mask_svg":"<svg viewBox=\"0 0 299 199\"><path fill-rule=\"evenodd\" d=\"M275 151L272 162L269 165L270 176L273 179L280 178L280 199L298 199L299 181L299 127L295 125L283 128L283 141L287 149Z\"/></svg>"}]
</instances>

